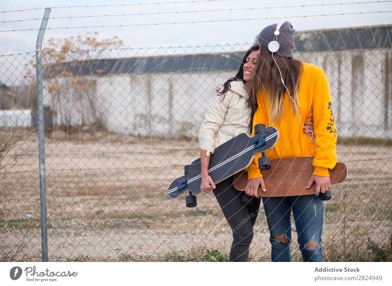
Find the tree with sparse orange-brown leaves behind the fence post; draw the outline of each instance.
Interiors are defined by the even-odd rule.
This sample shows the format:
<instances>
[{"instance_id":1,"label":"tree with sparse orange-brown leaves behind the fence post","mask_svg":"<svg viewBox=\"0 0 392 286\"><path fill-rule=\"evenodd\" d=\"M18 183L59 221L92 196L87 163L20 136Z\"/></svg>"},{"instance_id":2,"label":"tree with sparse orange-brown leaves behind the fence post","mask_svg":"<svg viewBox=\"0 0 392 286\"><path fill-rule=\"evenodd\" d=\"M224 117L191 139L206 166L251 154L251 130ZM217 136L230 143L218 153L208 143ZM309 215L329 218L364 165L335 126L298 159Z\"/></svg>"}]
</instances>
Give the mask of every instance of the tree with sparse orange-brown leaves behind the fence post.
<instances>
[{"instance_id":1,"label":"tree with sparse orange-brown leaves behind the fence post","mask_svg":"<svg viewBox=\"0 0 392 286\"><path fill-rule=\"evenodd\" d=\"M64 39L50 38L43 49L45 87L51 94L52 108L59 114L60 125L69 126L69 106L78 106L80 126L101 126L100 114L92 90L96 89L96 77L102 73L97 68L100 59L108 56L107 50L123 46L117 36L98 39L98 32L90 32ZM35 60L27 64L25 78L35 75ZM68 96L68 98L67 98ZM91 111L91 112L90 112ZM55 114L53 113L53 116Z\"/></svg>"}]
</instances>

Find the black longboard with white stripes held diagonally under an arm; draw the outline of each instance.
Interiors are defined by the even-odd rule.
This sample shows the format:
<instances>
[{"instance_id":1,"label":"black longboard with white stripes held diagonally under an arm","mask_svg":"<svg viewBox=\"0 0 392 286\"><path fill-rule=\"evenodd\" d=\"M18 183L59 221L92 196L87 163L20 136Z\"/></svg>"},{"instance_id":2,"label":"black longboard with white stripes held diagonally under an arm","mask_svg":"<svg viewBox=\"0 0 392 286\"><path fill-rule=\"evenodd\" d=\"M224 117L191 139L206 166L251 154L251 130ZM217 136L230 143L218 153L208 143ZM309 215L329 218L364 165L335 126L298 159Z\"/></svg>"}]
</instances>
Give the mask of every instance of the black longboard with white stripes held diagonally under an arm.
<instances>
[{"instance_id":1,"label":"black longboard with white stripes held diagonally under an arm","mask_svg":"<svg viewBox=\"0 0 392 286\"><path fill-rule=\"evenodd\" d=\"M274 127L267 127L250 137L246 133L230 139L215 149L210 155L208 174L215 184L224 181L234 174L244 170L253 157L271 149L278 139L279 132ZM200 192L201 183L200 158L185 166L185 175L175 179L169 186L169 196L177 198L189 191L192 195Z\"/></svg>"}]
</instances>

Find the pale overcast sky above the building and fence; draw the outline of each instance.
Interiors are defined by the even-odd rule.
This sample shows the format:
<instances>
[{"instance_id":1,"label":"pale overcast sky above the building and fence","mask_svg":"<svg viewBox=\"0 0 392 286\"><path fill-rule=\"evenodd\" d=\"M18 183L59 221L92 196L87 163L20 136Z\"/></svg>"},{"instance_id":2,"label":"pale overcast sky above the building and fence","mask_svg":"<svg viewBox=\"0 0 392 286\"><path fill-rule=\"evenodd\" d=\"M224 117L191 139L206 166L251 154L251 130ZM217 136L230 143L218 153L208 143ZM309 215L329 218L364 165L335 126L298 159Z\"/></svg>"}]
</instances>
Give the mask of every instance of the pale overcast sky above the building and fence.
<instances>
[{"instance_id":1,"label":"pale overcast sky above the building and fence","mask_svg":"<svg viewBox=\"0 0 392 286\"><path fill-rule=\"evenodd\" d=\"M22 53L35 51L37 30L11 31L39 28L44 7L77 6L77 5L104 5L104 4L127 4L127 6L113 7L78 7L78 8L53 8L48 23L49 28L73 27L73 26L115 26L155 23L181 23L216 20L234 20L248 18L263 18L260 20L246 20L233 22L213 22L196 24L171 24L154 26L126 26L126 27L92 27L92 28L68 28L48 29L45 38L64 38L76 36L88 31L98 31L100 38L112 38L118 36L124 41L124 47L167 47L167 46L194 46L194 45L216 45L251 43L256 34L267 25L289 20L294 28L299 30L327 29L342 27L358 27L387 25L392 23L392 1L363 4L345 4L354 2L369 2L367 0L216 0L194 3L162 3L162 2L184 2L186 0L0 0L0 11L36 9L21 12L0 13L0 22L25 20L21 22L0 23L0 54ZM161 2L161 4L156 4ZM154 3L144 5L129 5L139 3ZM340 5L330 5L339 3ZM294 5L318 5L310 7L282 7ZM41 9L42 8L42 9ZM252 8L250 10L249 8ZM263 9L260 9L263 8ZM200 10L223 10L232 11L175 13L175 14L150 14L163 12L184 12ZM246 10L238 10L246 9ZM362 15L339 15L339 16L316 16L325 14L377 12ZM111 14L134 14L111 17L89 17L56 19L57 17L78 17ZM299 16L299 17L298 17ZM305 16L305 17L304 17ZM286 18L287 17L287 18ZM265 19L268 18L268 19ZM45 45L45 41L44 41Z\"/></svg>"}]
</instances>

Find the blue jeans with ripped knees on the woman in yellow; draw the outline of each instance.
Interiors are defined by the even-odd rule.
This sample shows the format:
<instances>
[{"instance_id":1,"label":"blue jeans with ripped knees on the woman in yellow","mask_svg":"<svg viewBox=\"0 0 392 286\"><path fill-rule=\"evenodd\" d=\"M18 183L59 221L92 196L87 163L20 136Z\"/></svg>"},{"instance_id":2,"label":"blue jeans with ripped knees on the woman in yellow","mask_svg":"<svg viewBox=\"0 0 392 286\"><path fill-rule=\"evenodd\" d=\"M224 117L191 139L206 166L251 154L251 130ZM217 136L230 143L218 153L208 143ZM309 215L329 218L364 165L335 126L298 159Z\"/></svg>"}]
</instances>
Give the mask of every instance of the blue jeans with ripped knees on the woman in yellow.
<instances>
[{"instance_id":1,"label":"blue jeans with ripped knees on the woman in yellow","mask_svg":"<svg viewBox=\"0 0 392 286\"><path fill-rule=\"evenodd\" d=\"M292 211L303 260L322 261L321 234L324 213L323 202L318 196L263 197L263 205L270 229L272 261L291 261ZM285 237L287 243L274 238L276 236ZM315 244L317 245L314 247Z\"/></svg>"}]
</instances>

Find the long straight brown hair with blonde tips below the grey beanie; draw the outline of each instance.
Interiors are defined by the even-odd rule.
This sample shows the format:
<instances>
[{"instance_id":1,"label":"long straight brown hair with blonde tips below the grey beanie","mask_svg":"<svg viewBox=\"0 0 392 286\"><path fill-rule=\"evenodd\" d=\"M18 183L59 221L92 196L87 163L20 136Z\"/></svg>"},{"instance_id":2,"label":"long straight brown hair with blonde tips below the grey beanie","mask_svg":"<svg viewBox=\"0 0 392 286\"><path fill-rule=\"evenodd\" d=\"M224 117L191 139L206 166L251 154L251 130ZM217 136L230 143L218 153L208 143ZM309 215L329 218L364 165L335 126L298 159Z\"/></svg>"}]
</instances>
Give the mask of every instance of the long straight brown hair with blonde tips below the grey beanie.
<instances>
[{"instance_id":1,"label":"long straight brown hair with blonde tips below the grey beanie","mask_svg":"<svg viewBox=\"0 0 392 286\"><path fill-rule=\"evenodd\" d=\"M276 64L282 73L282 78L293 98L295 104L298 102L299 78L302 72L302 64L293 58L281 57L273 55ZM257 109L257 97L267 96L270 105L270 120L277 122L283 117L283 98L287 93L284 87L279 69L272 58L272 53L268 48L260 47L260 58L254 70L254 79L252 84L251 97L248 105L251 107L249 129L252 130L252 121L254 113ZM288 95L286 95L288 96ZM295 104L292 102L293 111Z\"/></svg>"}]
</instances>

